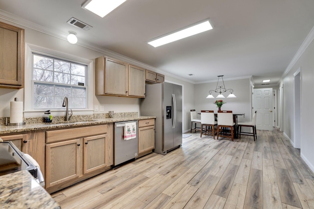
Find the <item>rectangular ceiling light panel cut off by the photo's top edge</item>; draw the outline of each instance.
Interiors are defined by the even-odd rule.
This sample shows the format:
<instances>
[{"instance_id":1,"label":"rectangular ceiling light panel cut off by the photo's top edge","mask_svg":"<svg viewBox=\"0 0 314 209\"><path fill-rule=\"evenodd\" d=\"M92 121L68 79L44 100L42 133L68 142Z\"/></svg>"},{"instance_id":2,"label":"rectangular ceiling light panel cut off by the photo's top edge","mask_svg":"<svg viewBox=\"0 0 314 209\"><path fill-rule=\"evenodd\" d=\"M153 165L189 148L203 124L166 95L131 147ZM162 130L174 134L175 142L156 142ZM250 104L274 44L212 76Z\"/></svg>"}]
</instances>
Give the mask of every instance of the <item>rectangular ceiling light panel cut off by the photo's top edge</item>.
<instances>
[{"instance_id":1,"label":"rectangular ceiling light panel cut off by the photo's top edge","mask_svg":"<svg viewBox=\"0 0 314 209\"><path fill-rule=\"evenodd\" d=\"M125 1L126 0L87 0L82 7L103 18Z\"/></svg>"}]
</instances>

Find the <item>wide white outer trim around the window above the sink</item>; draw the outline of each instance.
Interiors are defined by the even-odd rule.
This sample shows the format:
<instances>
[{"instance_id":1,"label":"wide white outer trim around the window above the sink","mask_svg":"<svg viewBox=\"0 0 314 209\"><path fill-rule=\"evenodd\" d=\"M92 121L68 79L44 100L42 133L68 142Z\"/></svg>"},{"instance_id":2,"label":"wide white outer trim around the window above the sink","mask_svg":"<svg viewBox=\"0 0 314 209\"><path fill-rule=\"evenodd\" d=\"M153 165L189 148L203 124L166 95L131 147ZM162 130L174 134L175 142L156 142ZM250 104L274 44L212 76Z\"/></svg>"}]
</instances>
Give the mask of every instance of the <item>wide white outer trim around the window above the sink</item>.
<instances>
[{"instance_id":1,"label":"wide white outer trim around the window above the sink","mask_svg":"<svg viewBox=\"0 0 314 209\"><path fill-rule=\"evenodd\" d=\"M86 87L86 109L73 109L74 115L90 115L93 114L93 69L94 63L92 60L80 58L63 52L52 49L26 44L25 56L25 88L24 88L24 117L40 117L43 116L43 110L32 109L33 89L32 89L32 53L53 56L58 59L67 59L68 61L78 64L87 65L87 87ZM63 109L52 109L53 116L63 116Z\"/></svg>"}]
</instances>

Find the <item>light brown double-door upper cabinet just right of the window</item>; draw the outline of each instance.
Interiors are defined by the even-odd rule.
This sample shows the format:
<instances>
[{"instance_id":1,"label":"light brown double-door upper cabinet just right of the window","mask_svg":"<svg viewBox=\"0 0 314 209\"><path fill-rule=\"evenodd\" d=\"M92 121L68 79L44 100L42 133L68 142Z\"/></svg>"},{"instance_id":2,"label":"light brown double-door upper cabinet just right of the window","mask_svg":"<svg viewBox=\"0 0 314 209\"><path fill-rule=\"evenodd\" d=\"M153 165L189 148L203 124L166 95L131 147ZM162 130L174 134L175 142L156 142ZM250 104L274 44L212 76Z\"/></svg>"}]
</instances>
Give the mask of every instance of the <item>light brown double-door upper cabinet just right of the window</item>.
<instances>
[{"instance_id":1,"label":"light brown double-door upper cabinet just right of the window","mask_svg":"<svg viewBox=\"0 0 314 209\"><path fill-rule=\"evenodd\" d=\"M96 95L145 97L145 70L104 56L96 58Z\"/></svg>"}]
</instances>

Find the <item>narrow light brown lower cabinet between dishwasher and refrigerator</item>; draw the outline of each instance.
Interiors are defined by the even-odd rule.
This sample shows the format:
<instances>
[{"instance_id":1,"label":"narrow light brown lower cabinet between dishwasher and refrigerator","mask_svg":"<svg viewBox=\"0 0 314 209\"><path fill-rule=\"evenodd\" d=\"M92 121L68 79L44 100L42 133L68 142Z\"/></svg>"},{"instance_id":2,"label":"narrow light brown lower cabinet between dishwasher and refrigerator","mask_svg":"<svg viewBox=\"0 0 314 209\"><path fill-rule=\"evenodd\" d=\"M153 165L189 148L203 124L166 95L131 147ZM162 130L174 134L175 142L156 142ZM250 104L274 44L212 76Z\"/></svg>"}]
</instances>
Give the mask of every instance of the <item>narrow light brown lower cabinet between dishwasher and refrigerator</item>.
<instances>
[{"instance_id":1,"label":"narrow light brown lower cabinet between dishwasher and refrigerator","mask_svg":"<svg viewBox=\"0 0 314 209\"><path fill-rule=\"evenodd\" d=\"M149 154L155 148L155 119L138 121L138 157Z\"/></svg>"}]
</instances>

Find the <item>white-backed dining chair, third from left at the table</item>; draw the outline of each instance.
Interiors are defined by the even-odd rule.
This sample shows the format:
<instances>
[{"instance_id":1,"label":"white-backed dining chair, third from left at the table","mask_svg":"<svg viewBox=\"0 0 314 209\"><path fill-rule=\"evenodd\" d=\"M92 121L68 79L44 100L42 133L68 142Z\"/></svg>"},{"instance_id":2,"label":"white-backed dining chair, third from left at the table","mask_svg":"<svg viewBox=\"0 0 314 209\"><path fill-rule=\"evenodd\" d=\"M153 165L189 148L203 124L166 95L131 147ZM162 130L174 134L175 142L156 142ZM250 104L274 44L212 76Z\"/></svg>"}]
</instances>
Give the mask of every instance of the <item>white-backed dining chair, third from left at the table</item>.
<instances>
[{"instance_id":1,"label":"white-backed dining chair, third from left at the table","mask_svg":"<svg viewBox=\"0 0 314 209\"><path fill-rule=\"evenodd\" d=\"M217 139L220 137L229 137L234 141L234 116L232 111L218 111L217 114ZM231 134L227 134L226 128L230 128Z\"/></svg>"}]
</instances>

